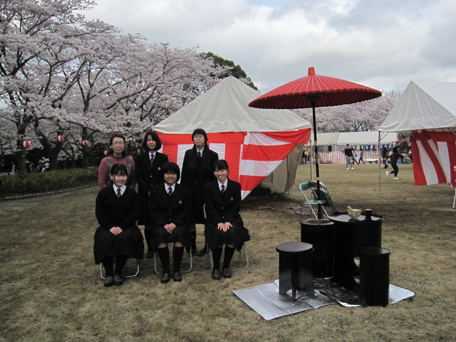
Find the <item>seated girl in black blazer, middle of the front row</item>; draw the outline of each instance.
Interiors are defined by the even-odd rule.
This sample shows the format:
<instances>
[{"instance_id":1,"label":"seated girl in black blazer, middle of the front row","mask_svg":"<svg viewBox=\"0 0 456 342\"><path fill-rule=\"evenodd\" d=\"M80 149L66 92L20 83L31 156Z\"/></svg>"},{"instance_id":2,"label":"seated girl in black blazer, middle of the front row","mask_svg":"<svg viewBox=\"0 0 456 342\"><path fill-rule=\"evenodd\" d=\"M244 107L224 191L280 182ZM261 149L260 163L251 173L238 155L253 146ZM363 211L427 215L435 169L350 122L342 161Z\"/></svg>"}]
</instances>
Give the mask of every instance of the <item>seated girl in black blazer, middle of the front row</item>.
<instances>
[{"instance_id":1,"label":"seated girl in black blazer, middle of the front row","mask_svg":"<svg viewBox=\"0 0 456 342\"><path fill-rule=\"evenodd\" d=\"M176 163L166 163L161 168L164 183L152 187L149 197L149 211L153 224L152 251L158 251L163 267L161 283L170 280L168 244L174 243L173 280L181 281L181 261L184 247L190 251L192 234L188 217L192 208L187 187L177 184L181 171Z\"/></svg>"}]
</instances>

